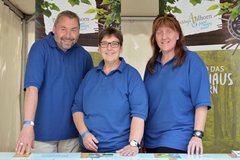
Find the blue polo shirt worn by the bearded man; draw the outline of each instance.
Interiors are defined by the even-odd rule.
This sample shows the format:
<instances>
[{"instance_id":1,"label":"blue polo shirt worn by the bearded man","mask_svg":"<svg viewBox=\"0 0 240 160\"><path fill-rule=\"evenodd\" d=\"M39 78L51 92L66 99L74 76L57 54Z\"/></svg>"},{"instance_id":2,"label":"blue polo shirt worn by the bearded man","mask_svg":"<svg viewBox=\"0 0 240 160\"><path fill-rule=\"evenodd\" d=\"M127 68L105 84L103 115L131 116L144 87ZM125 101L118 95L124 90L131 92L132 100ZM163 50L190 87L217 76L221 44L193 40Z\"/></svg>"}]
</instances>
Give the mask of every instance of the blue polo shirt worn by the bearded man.
<instances>
[{"instance_id":1,"label":"blue polo shirt worn by the bearded man","mask_svg":"<svg viewBox=\"0 0 240 160\"><path fill-rule=\"evenodd\" d=\"M38 88L35 140L53 141L78 137L71 106L85 74L93 66L91 56L78 44L67 52L56 45L53 33L31 47L24 88Z\"/></svg>"}]
</instances>

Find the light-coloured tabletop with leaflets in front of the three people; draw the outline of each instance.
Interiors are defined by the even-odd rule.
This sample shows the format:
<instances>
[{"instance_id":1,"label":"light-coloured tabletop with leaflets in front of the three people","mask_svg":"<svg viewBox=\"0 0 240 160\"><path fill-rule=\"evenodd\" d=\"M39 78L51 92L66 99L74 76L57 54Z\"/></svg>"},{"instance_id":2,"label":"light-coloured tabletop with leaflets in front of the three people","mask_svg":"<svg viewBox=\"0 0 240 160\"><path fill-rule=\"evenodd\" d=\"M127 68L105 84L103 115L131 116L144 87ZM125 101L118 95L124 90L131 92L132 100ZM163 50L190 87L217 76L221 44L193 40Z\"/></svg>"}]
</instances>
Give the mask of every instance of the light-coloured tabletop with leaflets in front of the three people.
<instances>
[{"instance_id":1,"label":"light-coloured tabletop with leaflets in front of the three people","mask_svg":"<svg viewBox=\"0 0 240 160\"><path fill-rule=\"evenodd\" d=\"M115 153L32 153L19 157L14 152L0 152L0 160L240 160L231 154L143 154L122 157Z\"/></svg>"}]
</instances>

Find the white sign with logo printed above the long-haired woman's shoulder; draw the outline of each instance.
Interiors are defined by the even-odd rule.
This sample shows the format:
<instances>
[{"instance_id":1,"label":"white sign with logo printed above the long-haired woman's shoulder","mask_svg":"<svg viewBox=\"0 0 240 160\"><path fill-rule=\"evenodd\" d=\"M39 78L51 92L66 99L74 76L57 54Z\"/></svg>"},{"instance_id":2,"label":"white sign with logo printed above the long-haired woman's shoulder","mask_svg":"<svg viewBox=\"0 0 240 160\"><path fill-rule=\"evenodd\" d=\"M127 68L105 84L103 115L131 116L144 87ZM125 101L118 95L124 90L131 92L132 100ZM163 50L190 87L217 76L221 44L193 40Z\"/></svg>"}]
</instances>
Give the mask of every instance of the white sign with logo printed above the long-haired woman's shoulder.
<instances>
[{"instance_id":1,"label":"white sign with logo printed above the long-haired woman's shoulder","mask_svg":"<svg viewBox=\"0 0 240 160\"><path fill-rule=\"evenodd\" d=\"M195 6L186 0L175 3L182 11L181 14L175 14L175 16L185 36L221 29L222 21L221 16L217 16L218 10L206 11L216 3L219 3L219 0L203 0L200 5Z\"/></svg>"}]
</instances>

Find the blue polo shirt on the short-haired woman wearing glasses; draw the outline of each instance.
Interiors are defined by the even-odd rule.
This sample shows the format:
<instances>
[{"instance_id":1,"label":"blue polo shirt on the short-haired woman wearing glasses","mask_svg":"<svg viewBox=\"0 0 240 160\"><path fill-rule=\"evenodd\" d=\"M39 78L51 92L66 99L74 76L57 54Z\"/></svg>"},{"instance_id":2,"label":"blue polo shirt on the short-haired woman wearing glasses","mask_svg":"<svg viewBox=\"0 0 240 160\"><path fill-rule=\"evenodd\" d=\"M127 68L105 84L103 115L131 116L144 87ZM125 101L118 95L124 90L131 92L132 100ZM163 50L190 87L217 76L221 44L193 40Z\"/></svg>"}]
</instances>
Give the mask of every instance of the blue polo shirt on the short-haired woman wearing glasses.
<instances>
[{"instance_id":1,"label":"blue polo shirt on the short-haired woman wearing glasses","mask_svg":"<svg viewBox=\"0 0 240 160\"><path fill-rule=\"evenodd\" d=\"M89 131L98 139L98 152L112 152L129 143L132 117L146 119L147 93L140 74L123 58L106 75L103 61L90 70L78 92L72 112L83 112ZM80 144L82 138L80 137Z\"/></svg>"}]
</instances>

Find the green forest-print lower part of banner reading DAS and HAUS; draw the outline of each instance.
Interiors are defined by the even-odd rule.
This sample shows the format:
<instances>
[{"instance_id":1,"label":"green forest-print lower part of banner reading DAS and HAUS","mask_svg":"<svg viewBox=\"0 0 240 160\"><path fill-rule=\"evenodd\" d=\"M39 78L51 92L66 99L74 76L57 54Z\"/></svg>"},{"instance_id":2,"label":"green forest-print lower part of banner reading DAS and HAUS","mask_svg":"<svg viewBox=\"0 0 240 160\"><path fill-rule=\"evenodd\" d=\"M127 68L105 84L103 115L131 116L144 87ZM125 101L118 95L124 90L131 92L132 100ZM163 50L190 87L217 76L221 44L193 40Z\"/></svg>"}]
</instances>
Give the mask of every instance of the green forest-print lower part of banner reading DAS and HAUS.
<instances>
[{"instance_id":1,"label":"green forest-print lower part of banner reading DAS and HAUS","mask_svg":"<svg viewBox=\"0 0 240 160\"><path fill-rule=\"evenodd\" d=\"M209 68L209 75L218 92L212 92L212 108L208 112L204 142L205 153L231 153L240 149L240 50L232 55L232 50L198 52ZM222 69L219 69L221 68ZM217 78L213 75L217 74ZM228 76L226 76L228 75ZM233 84L230 85L228 78ZM213 82L213 79L215 81Z\"/></svg>"}]
</instances>

